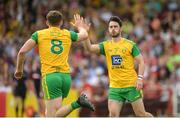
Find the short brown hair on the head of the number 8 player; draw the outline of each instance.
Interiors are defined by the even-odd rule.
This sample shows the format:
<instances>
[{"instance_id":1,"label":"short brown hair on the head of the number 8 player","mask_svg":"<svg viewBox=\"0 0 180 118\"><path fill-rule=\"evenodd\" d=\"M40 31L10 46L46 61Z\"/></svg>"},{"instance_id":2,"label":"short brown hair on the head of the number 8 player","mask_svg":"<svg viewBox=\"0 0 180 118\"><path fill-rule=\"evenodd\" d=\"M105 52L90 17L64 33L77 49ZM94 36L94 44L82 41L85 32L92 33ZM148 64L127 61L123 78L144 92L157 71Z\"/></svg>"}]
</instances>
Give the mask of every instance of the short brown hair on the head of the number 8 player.
<instances>
[{"instance_id":1,"label":"short brown hair on the head of the number 8 player","mask_svg":"<svg viewBox=\"0 0 180 118\"><path fill-rule=\"evenodd\" d=\"M57 26L62 21L63 15L59 11L52 10L52 11L49 11L49 13L46 16L46 19L50 25Z\"/></svg>"}]
</instances>

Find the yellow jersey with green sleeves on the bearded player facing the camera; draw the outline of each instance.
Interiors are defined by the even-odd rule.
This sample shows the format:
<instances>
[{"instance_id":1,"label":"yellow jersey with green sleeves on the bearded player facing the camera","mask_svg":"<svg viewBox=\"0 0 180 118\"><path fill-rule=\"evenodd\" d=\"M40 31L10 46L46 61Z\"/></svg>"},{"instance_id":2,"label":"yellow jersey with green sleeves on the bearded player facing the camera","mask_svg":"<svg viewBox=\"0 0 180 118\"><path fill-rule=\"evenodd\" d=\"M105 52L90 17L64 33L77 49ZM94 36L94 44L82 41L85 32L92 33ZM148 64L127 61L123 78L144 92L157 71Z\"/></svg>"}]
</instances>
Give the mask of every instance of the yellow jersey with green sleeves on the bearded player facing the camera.
<instances>
[{"instance_id":1,"label":"yellow jersey with green sleeves on the bearded player facing the camera","mask_svg":"<svg viewBox=\"0 0 180 118\"><path fill-rule=\"evenodd\" d=\"M119 42L107 40L99 44L100 53L106 56L110 87L126 88L135 86L137 73L134 57L140 54L133 41L121 38Z\"/></svg>"}]
</instances>

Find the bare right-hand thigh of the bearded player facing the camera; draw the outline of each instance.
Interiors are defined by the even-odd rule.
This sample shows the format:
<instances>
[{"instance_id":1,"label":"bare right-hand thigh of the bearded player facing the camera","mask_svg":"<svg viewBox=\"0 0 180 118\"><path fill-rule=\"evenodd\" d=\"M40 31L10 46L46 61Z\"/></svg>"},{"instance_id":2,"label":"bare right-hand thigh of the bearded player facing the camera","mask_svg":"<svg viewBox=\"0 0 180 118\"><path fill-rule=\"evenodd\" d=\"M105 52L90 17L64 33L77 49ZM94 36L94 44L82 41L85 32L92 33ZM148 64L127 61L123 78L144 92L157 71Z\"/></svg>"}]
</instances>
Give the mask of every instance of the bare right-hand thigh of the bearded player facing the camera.
<instances>
[{"instance_id":1,"label":"bare right-hand thigh of the bearded player facing the camera","mask_svg":"<svg viewBox=\"0 0 180 118\"><path fill-rule=\"evenodd\" d=\"M131 103L132 108L136 114L136 116L143 116L145 114L145 108L142 98Z\"/></svg>"}]
</instances>

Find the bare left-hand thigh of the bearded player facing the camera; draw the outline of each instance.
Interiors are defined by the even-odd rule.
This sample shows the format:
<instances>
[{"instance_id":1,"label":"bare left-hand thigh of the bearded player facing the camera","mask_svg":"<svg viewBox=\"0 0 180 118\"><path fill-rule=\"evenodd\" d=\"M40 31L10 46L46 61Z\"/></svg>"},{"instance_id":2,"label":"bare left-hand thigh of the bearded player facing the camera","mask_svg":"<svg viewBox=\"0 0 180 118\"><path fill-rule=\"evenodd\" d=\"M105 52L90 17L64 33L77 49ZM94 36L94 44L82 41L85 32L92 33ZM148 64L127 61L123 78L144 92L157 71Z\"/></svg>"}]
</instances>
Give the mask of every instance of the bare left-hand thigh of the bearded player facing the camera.
<instances>
[{"instance_id":1,"label":"bare left-hand thigh of the bearded player facing the camera","mask_svg":"<svg viewBox=\"0 0 180 118\"><path fill-rule=\"evenodd\" d=\"M123 102L116 100L108 100L108 109L110 117L119 117Z\"/></svg>"}]
</instances>

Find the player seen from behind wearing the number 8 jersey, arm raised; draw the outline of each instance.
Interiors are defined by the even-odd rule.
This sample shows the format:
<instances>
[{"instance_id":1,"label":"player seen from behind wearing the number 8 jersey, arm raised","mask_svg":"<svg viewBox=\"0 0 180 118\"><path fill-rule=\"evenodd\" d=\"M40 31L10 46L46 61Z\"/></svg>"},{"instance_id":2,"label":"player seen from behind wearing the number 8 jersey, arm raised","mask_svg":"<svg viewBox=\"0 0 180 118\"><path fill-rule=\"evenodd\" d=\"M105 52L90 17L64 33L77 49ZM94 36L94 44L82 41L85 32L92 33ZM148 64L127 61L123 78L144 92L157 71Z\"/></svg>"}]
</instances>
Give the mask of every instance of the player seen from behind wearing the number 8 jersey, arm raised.
<instances>
[{"instance_id":1,"label":"player seen from behind wearing the number 8 jersey, arm raised","mask_svg":"<svg viewBox=\"0 0 180 118\"><path fill-rule=\"evenodd\" d=\"M84 24L83 18L79 15L74 16L75 26L77 26L79 33L60 28L63 18L58 11L50 11L46 18L46 24L49 28L34 32L20 49L17 56L15 77L21 79L25 54L38 45L46 116L67 116L79 107L86 107L94 111L93 105L84 94L70 105L61 106L62 100L67 97L71 86L70 67L68 64L71 43L82 41L88 37L86 30L82 27Z\"/></svg>"}]
</instances>

